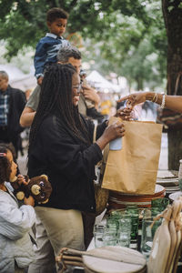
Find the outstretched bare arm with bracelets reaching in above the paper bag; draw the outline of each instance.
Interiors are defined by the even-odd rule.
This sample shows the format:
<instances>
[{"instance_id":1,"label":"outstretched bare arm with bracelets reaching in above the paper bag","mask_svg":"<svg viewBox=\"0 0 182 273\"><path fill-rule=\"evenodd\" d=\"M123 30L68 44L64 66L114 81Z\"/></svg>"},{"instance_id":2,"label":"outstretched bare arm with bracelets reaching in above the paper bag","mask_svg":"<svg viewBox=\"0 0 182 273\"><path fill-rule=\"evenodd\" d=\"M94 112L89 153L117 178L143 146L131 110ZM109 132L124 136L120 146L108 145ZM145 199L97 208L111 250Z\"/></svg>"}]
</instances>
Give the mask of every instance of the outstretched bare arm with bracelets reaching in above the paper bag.
<instances>
[{"instance_id":1,"label":"outstretched bare arm with bracelets reaching in above the paper bag","mask_svg":"<svg viewBox=\"0 0 182 273\"><path fill-rule=\"evenodd\" d=\"M182 96L168 96L154 92L139 92L124 96L120 98L118 102L127 100L126 105L133 107L137 104L145 102L146 100L149 100L157 103L158 105L161 105L163 96L165 96L165 108L174 110L178 113L182 113Z\"/></svg>"}]
</instances>

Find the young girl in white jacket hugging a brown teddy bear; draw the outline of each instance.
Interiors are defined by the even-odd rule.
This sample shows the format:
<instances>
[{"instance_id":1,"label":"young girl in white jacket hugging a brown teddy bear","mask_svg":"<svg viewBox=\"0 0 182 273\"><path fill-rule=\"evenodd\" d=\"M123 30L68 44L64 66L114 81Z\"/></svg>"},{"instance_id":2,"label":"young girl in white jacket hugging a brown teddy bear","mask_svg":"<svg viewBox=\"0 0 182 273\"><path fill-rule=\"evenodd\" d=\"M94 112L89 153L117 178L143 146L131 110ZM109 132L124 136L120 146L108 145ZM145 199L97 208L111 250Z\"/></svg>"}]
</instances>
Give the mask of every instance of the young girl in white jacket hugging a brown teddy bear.
<instances>
[{"instance_id":1,"label":"young girl in white jacket hugging a brown teddy bear","mask_svg":"<svg viewBox=\"0 0 182 273\"><path fill-rule=\"evenodd\" d=\"M34 259L28 231L35 223L34 198L24 199L25 205L18 207L18 201L8 181L14 181L17 165L12 152L0 146L0 272L24 272ZM24 183L23 177L18 176Z\"/></svg>"}]
</instances>

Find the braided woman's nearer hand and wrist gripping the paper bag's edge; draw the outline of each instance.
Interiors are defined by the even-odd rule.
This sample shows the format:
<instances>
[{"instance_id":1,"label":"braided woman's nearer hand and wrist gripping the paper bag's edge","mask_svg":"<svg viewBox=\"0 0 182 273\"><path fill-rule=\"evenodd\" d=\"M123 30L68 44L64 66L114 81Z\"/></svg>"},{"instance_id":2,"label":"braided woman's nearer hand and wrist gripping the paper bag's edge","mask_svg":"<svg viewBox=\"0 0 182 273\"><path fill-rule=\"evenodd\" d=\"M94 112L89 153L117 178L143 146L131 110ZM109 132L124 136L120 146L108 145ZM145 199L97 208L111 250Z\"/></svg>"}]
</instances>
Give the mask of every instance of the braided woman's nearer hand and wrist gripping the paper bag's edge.
<instances>
[{"instance_id":1,"label":"braided woman's nearer hand and wrist gripping the paper bag's edge","mask_svg":"<svg viewBox=\"0 0 182 273\"><path fill-rule=\"evenodd\" d=\"M96 140L96 144L103 150L113 139L125 136L125 127L122 122L117 121L106 127L102 136Z\"/></svg>"}]
</instances>

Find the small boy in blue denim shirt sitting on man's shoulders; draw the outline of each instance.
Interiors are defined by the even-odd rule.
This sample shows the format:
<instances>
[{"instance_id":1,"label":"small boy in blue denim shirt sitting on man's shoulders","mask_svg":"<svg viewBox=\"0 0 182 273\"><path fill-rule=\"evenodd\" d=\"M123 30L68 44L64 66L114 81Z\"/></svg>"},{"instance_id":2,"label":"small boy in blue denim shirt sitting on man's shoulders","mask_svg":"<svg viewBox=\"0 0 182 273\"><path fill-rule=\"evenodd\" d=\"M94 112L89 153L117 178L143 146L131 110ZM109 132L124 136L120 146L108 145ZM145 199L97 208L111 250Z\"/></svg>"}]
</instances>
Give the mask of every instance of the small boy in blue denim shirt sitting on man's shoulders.
<instances>
[{"instance_id":1,"label":"small boy in blue denim shirt sitting on man's shoulders","mask_svg":"<svg viewBox=\"0 0 182 273\"><path fill-rule=\"evenodd\" d=\"M40 39L35 51L35 77L38 85L42 84L45 68L56 63L59 48L69 45L62 36L66 31L67 18L66 11L58 7L53 7L47 12L46 24L50 32Z\"/></svg>"}]
</instances>

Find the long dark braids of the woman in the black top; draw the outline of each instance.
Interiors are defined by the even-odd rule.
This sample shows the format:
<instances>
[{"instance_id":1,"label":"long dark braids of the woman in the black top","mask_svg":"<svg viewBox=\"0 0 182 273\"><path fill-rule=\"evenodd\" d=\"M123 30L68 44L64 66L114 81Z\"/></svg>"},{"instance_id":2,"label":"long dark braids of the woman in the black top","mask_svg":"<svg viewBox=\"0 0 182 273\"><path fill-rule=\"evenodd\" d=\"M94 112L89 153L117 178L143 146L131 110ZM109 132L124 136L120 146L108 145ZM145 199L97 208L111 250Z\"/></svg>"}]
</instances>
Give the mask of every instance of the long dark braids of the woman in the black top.
<instances>
[{"instance_id":1,"label":"long dark braids of the woman in the black top","mask_svg":"<svg viewBox=\"0 0 182 273\"><path fill-rule=\"evenodd\" d=\"M87 145L91 144L86 125L81 119L77 106L73 105L72 76L76 69L70 65L56 64L49 66L41 86L39 105L30 130L29 150L34 146L39 126L46 116L55 114L76 139Z\"/></svg>"}]
</instances>

